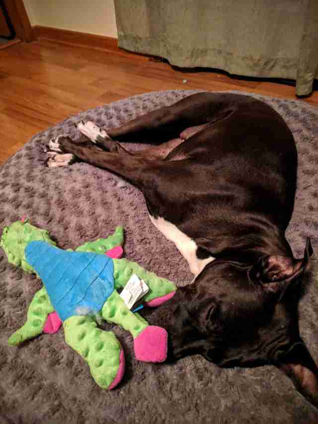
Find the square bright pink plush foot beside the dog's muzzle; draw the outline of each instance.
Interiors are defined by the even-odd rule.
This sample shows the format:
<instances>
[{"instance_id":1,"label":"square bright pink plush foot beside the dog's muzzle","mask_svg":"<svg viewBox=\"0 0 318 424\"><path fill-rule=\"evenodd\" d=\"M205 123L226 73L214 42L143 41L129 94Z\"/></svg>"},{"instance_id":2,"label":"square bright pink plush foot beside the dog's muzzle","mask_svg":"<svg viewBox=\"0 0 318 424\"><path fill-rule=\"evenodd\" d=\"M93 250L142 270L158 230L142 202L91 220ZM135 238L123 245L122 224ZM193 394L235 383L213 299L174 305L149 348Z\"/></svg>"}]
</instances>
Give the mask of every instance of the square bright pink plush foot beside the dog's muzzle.
<instances>
[{"instance_id":1,"label":"square bright pink plush foot beside the dog's muzzle","mask_svg":"<svg viewBox=\"0 0 318 424\"><path fill-rule=\"evenodd\" d=\"M146 327L134 340L134 349L140 361L163 362L167 357L168 333L161 327Z\"/></svg>"}]
</instances>

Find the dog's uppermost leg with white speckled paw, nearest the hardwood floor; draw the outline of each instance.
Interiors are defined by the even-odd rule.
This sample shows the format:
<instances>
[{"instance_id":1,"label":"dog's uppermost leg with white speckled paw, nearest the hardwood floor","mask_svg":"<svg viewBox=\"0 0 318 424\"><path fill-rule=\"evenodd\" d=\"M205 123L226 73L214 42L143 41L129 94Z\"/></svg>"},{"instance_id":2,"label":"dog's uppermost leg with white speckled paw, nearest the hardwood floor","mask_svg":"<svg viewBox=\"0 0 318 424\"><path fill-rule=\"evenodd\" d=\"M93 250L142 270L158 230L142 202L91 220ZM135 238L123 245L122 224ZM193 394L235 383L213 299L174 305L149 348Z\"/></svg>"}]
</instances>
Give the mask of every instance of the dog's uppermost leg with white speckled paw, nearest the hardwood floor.
<instances>
[{"instance_id":1,"label":"dog's uppermost leg with white speckled paw, nearest the hardwood floor","mask_svg":"<svg viewBox=\"0 0 318 424\"><path fill-rule=\"evenodd\" d=\"M215 93L202 92L138 116L117 128L107 128L105 131L91 121L81 121L78 129L108 152L130 154L118 142L146 142L155 145L156 149L134 155L164 159L184 140L223 119L229 112L228 102L220 102Z\"/></svg>"}]
</instances>

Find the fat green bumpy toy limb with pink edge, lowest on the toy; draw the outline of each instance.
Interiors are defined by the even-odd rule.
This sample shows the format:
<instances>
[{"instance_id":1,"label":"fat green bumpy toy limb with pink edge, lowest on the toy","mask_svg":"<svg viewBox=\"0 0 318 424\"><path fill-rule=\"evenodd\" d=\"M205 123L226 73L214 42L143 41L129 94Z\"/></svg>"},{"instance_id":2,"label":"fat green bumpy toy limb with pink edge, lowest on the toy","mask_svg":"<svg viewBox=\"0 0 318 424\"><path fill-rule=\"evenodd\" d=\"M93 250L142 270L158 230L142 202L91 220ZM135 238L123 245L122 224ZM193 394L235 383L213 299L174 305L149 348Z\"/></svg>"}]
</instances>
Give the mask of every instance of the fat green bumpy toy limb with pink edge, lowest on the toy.
<instances>
[{"instance_id":1,"label":"fat green bumpy toy limb with pink edge, lowest on the toy","mask_svg":"<svg viewBox=\"0 0 318 424\"><path fill-rule=\"evenodd\" d=\"M117 375L122 349L114 333L98 329L89 316L70 317L63 327L66 342L88 363L98 386L107 389Z\"/></svg>"}]
</instances>

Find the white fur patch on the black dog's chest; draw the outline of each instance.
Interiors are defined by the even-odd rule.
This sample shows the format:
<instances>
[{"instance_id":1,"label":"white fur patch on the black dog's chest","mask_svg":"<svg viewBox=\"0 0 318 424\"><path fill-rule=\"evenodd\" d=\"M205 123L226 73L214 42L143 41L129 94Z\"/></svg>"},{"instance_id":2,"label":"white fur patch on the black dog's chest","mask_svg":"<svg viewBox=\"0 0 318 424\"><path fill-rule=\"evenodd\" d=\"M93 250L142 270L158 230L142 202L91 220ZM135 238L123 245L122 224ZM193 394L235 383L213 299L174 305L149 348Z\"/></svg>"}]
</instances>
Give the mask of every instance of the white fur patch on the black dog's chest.
<instances>
[{"instance_id":1,"label":"white fur patch on the black dog's chest","mask_svg":"<svg viewBox=\"0 0 318 424\"><path fill-rule=\"evenodd\" d=\"M154 218L151 215L150 219L154 226L171 242L175 244L182 256L187 260L191 272L196 276L198 275L205 265L215 257L210 256L206 259L199 259L196 255L197 245L195 242L186 236L182 231L180 231L174 224L166 221L165 219L159 217Z\"/></svg>"}]
</instances>

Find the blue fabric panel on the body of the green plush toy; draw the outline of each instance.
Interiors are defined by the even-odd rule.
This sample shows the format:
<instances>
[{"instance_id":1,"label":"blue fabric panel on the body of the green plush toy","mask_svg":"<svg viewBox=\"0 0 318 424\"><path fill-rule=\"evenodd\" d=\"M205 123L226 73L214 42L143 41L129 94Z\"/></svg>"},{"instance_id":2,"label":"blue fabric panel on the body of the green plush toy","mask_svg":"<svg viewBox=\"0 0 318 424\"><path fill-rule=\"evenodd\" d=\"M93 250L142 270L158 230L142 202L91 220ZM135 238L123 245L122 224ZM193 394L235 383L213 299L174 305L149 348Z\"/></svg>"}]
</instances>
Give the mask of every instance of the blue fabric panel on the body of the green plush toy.
<instances>
[{"instance_id":1,"label":"blue fabric panel on the body of the green plush toy","mask_svg":"<svg viewBox=\"0 0 318 424\"><path fill-rule=\"evenodd\" d=\"M98 313L114 290L114 263L104 254L67 252L43 241L29 243L24 253L62 321Z\"/></svg>"}]
</instances>

